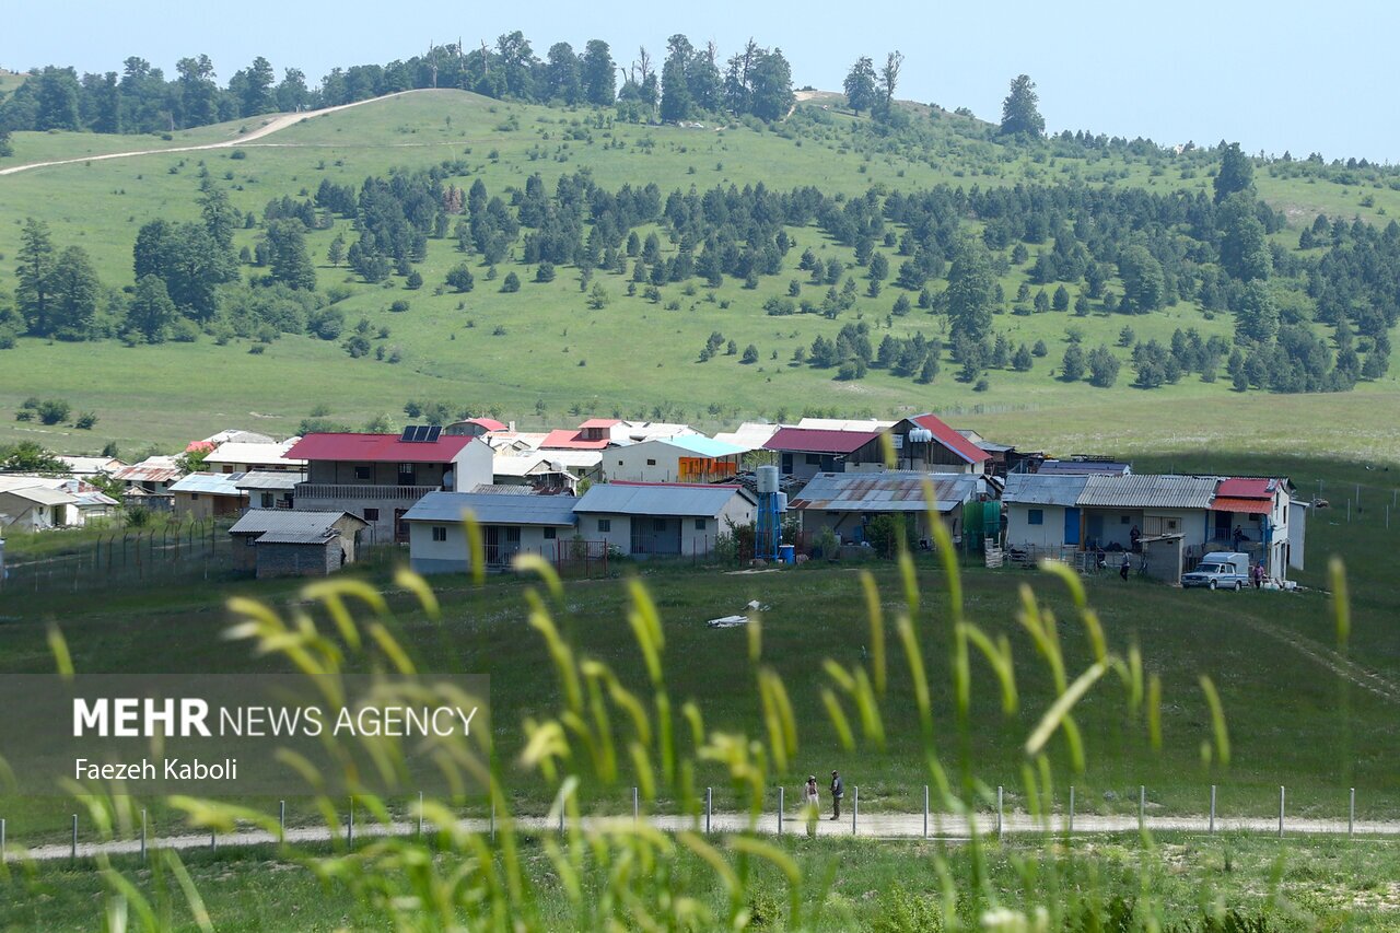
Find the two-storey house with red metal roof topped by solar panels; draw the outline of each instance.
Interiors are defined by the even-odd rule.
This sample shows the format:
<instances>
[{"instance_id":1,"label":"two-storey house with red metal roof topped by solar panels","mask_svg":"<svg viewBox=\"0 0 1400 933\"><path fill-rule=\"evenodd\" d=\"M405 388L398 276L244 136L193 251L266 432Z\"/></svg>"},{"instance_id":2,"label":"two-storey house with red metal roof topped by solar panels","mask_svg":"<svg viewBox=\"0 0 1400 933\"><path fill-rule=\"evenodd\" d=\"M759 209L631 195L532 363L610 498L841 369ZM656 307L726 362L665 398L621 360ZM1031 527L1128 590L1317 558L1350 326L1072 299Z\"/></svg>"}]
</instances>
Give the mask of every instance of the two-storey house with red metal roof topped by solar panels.
<instances>
[{"instance_id":1,"label":"two-storey house with red metal roof topped by solar panels","mask_svg":"<svg viewBox=\"0 0 1400 933\"><path fill-rule=\"evenodd\" d=\"M491 482L491 447L476 437L409 426L402 434L307 434L287 451L307 461L294 507L363 518L371 542L406 542L403 516L430 492Z\"/></svg>"}]
</instances>

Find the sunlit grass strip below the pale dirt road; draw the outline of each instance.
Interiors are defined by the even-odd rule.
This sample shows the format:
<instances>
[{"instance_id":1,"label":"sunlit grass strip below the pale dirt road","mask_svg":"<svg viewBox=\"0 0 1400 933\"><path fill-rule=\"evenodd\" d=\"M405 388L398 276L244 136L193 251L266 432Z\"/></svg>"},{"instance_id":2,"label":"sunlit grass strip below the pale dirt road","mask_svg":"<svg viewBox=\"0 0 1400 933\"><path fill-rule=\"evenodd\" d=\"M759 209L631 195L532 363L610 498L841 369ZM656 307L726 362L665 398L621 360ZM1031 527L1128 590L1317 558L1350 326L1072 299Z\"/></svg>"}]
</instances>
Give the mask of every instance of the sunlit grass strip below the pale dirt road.
<instances>
[{"instance_id":1,"label":"sunlit grass strip below the pale dirt road","mask_svg":"<svg viewBox=\"0 0 1400 933\"><path fill-rule=\"evenodd\" d=\"M780 848L806 880L801 906L811 930L920 930L907 925L937 909L934 857L946 857L952 880L967 898L970 859L962 849L921 842L808 841L788 836ZM526 877L535 885L545 929L571 929L567 895L547 871L538 842L522 846ZM377 929L382 919L339 881L319 881L293 853L270 848L186 853L185 862L209 918L218 930ZM455 856L440 856L447 874ZM722 911L724 890L693 857L679 857L673 890ZM134 860L116 860L136 890L158 905L174 930L197 929L182 892L161 885ZM1396 850L1389 843L1288 839L1284 843L1236 836L1162 836L1152 845L1135 836L1077 843L1072 850L1035 842L993 846L987 852L990 890L997 904L1033 909L1050 901L1074 919L1086 906L1121 899L1138 909L1137 922L1155 913L1166 929L1196 929L1204 915L1236 911L1268 933L1303 930L1382 932L1394 929L1400 891ZM1026 881L1026 877L1033 878ZM0 930L91 927L101 916L105 887L88 866L45 864L0 880ZM746 892L759 929L787 929L787 887L776 870L759 870ZM990 906L990 905L986 905ZM979 909L963 899L956 911L976 922ZM900 922L906 926L900 926ZM1119 927L1113 927L1119 929ZM1137 925L1126 929L1141 929Z\"/></svg>"}]
</instances>

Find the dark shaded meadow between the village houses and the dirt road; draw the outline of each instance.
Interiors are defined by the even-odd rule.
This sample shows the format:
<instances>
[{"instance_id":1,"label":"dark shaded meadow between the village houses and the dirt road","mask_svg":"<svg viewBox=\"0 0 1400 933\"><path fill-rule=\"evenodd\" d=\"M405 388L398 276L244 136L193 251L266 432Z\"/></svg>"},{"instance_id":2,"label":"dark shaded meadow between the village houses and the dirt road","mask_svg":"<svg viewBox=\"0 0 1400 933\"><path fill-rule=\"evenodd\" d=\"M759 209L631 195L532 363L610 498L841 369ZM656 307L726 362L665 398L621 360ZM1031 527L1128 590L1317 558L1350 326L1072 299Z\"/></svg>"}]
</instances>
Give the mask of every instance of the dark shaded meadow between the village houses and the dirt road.
<instances>
[{"instance_id":1,"label":"dark shaded meadow between the village houses and the dirt road","mask_svg":"<svg viewBox=\"0 0 1400 933\"><path fill-rule=\"evenodd\" d=\"M1250 472L1267 461L1196 459L1182 469ZM1151 464L1149 464L1151 465ZM1141 719L1124 712L1120 689L1105 682L1077 713L1088 737L1088 770L1074 775L1064 749L1056 752L1056 792L1078 787L1081 813L1130 813L1137 787L1148 787L1152 813L1198 815L1205 811L1208 786L1219 785L1224 815L1275 813L1277 787L1287 785L1289 813L1298 817L1344 818L1347 789L1358 789L1358 815L1400 818L1400 783L1392 762L1400 734L1396 696L1400 695L1400 597L1390 586L1389 555L1400 535L1400 514L1392 530L1383 524L1383 499L1394 486L1361 488L1364 510L1345 521L1344 500L1355 495L1366 471L1347 472L1320 461L1288 464L1303 493L1319 478L1333 507L1309 516L1308 570L1310 587L1301 594L1208 594L1182 591L1116 574L1086 581L1089 600L1103 619L1109 643L1126 651L1137 644L1148 671L1162 678L1163 747L1154 751ZM1350 654L1337 650L1327 586L1327 560L1348 562L1352 594ZM889 565L868 565L883 594L886 628L902 597ZM801 754L790 773L776 779L797 787L806 773L840 768L861 786L867 810L917 811L927 772L917 752L917 716L911 685L895 636L890 700L885 731L888 744L840 749L823 712L819 689L822 661L868 661L869 629L860 579L848 565L806 565L764 574L727 574L715 569L637 565L666 626L668 688L672 696L696 698L711 728L753 733L759 728L753 672L746 658L743 630L715 630L706 621L738 611L749 600L770 609L763 618L764 660L784 678L799 723ZM924 591L918 623L925 664L939 710L942 754L952 766L959 759L951 738L951 636L946 628L946 586L934 563L923 556L918 577ZM990 786L1008 789L1008 806L1023 806L1021 744L1049 705L1049 672L1016 622L1021 587L1032 584L1040 601L1060 619L1060 637L1071 670L1089 663L1081 626L1074 621L1063 587L1042 574L1007 569L967 569L963 574L970 616L993 637L1005 635L1016 658L1019 707L1011 716L998 709L990 671L974 665L973 728L966 758L973 773ZM382 572L371 580L384 581ZM405 637L413 653L433 670L484 671L493 678L493 719L503 782L515 807L540 813L546 794L536 775L515 761L522 747L519 724L528 716L549 714L559 702L557 686L540 639L525 623L522 583L494 577L483 587L461 577L435 581L444 604L441 625L413 611L405 595L395 597ZM7 598L0 625L0 672L42 671L52 664L45 622L57 621L80 671L252 671L274 668L266 657L220 639L228 618L223 600L242 594L283 604L294 583L252 581L216 587L202 581L160 591L112 590L101 600L91 594ZM641 688L644 670L624 611L624 579L570 583L561 625L588 656L613 664L619 677ZM1200 745L1211 737L1210 716L1197 678L1218 685L1229 721L1233 759L1229 768L1207 768ZM718 773L701 769L701 783L721 786ZM717 792L718 794L718 792ZM601 794L588 783L589 807L619 810L630 801ZM263 801L266 803L266 801ZM717 807L731 803L717 796ZM62 797L0 799L10 817L11 838L57 838L71 804Z\"/></svg>"}]
</instances>

